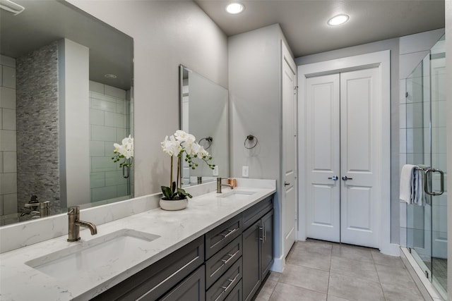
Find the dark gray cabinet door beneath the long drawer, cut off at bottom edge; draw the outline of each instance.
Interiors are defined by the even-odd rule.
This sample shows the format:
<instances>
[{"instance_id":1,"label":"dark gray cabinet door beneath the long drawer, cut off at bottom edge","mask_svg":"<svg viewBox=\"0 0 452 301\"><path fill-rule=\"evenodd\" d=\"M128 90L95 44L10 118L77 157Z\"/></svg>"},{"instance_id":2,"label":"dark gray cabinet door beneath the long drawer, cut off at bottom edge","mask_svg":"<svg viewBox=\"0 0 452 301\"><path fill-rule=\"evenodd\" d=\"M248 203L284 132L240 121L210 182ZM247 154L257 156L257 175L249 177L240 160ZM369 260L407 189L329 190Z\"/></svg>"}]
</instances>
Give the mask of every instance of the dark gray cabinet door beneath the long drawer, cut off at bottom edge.
<instances>
[{"instance_id":1,"label":"dark gray cabinet door beneath the long drawer, cut off at bottom edge","mask_svg":"<svg viewBox=\"0 0 452 301\"><path fill-rule=\"evenodd\" d=\"M190 301L204 301L206 300L206 286L204 283L204 266L193 272L190 276L185 278L175 288L170 290L165 296L160 298L162 301L175 300L190 300ZM152 299L138 299L138 300L152 300Z\"/></svg>"}]
</instances>

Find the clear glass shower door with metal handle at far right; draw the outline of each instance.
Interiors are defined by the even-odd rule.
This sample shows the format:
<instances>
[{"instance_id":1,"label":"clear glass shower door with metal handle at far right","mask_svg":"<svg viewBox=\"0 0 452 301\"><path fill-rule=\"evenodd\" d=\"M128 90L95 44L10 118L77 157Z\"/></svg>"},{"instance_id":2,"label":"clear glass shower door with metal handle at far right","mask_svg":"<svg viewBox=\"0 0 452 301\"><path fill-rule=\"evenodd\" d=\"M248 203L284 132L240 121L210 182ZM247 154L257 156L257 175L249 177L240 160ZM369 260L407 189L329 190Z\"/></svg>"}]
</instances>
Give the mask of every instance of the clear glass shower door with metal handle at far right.
<instances>
[{"instance_id":1,"label":"clear glass shower door with metal handle at far right","mask_svg":"<svg viewBox=\"0 0 452 301\"><path fill-rule=\"evenodd\" d=\"M422 206L407 206L407 246L446 299L446 59L442 37L406 80L407 163L420 166Z\"/></svg>"}]
</instances>

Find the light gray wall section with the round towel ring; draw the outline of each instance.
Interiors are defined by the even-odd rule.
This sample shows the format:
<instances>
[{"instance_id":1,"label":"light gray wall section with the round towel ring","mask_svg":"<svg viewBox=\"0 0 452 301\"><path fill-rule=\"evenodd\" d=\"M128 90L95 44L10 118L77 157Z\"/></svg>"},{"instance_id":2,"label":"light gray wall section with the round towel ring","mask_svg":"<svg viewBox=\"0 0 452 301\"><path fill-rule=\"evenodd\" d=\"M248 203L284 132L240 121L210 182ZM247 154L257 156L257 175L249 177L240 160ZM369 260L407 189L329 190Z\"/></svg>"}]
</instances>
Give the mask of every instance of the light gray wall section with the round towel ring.
<instances>
[{"instance_id":1,"label":"light gray wall section with the round towel ring","mask_svg":"<svg viewBox=\"0 0 452 301\"><path fill-rule=\"evenodd\" d=\"M280 41L279 25L270 25L229 38L230 171L242 177L277 179L275 197L275 257L282 254L280 220ZM247 135L258 145L245 149Z\"/></svg>"}]
</instances>

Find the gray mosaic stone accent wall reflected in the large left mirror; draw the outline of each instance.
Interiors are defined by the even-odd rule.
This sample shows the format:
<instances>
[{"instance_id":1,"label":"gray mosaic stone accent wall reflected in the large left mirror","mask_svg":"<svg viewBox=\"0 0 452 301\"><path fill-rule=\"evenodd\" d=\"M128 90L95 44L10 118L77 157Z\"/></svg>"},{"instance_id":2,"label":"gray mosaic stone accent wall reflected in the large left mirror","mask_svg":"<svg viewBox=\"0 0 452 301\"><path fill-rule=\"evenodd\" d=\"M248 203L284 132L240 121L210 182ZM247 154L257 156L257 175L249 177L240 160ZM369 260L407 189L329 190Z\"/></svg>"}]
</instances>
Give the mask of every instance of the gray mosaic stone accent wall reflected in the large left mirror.
<instances>
[{"instance_id":1,"label":"gray mosaic stone accent wall reflected in the large left mirror","mask_svg":"<svg viewBox=\"0 0 452 301\"><path fill-rule=\"evenodd\" d=\"M32 195L59 213L58 42L16 60L18 212ZM3 144L2 144L3 145Z\"/></svg>"}]
</instances>

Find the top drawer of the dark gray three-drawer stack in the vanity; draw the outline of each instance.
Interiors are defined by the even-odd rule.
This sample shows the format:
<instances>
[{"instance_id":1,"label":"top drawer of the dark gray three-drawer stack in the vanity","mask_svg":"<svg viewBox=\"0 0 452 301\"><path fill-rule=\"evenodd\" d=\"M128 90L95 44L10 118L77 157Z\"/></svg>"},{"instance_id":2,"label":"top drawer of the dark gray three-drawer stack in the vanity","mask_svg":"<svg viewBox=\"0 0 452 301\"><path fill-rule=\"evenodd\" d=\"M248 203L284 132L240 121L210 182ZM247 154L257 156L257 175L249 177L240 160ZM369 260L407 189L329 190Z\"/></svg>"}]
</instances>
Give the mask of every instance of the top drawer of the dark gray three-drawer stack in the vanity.
<instances>
[{"instance_id":1,"label":"top drawer of the dark gray three-drawer stack in the vanity","mask_svg":"<svg viewBox=\"0 0 452 301\"><path fill-rule=\"evenodd\" d=\"M242 233L242 214L234 216L206 234L206 259Z\"/></svg>"}]
</instances>

